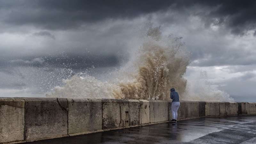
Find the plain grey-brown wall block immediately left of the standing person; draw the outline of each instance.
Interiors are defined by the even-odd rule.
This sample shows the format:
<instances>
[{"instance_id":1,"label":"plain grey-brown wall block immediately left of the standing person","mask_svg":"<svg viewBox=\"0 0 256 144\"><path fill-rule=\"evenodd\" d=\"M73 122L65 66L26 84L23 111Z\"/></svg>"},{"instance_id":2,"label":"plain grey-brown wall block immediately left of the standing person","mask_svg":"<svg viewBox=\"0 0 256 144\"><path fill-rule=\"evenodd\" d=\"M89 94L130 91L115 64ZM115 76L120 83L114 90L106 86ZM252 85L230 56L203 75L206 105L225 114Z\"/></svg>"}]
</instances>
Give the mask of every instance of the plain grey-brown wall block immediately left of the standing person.
<instances>
[{"instance_id":1,"label":"plain grey-brown wall block immediately left of the standing person","mask_svg":"<svg viewBox=\"0 0 256 144\"><path fill-rule=\"evenodd\" d=\"M168 101L149 100L150 123L168 121Z\"/></svg>"}]
</instances>

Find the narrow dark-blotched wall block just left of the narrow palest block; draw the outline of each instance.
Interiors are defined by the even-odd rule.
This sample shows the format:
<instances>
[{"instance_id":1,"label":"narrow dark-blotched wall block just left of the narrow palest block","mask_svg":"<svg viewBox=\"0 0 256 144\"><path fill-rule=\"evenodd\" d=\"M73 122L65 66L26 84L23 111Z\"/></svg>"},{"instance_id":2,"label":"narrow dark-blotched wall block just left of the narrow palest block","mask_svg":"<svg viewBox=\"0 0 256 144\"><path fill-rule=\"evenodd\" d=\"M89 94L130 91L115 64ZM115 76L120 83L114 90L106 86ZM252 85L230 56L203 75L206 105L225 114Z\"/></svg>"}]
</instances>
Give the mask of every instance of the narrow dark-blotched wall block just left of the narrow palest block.
<instances>
[{"instance_id":1,"label":"narrow dark-blotched wall block just left of the narrow palest block","mask_svg":"<svg viewBox=\"0 0 256 144\"><path fill-rule=\"evenodd\" d=\"M129 102L129 126L140 124L140 101L139 100L128 100ZM126 114L127 116L127 114Z\"/></svg>"}]
</instances>

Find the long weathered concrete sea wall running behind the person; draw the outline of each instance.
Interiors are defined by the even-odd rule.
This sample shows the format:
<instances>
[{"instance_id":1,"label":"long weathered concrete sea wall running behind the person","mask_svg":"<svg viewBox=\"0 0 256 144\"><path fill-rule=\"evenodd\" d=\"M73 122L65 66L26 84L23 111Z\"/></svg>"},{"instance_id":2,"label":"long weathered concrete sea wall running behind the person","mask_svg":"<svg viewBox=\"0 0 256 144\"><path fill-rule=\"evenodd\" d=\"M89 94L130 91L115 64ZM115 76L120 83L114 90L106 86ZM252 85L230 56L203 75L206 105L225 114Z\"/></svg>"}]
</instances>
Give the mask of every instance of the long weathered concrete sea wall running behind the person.
<instances>
[{"instance_id":1,"label":"long weathered concrete sea wall running behind the person","mask_svg":"<svg viewBox=\"0 0 256 144\"><path fill-rule=\"evenodd\" d=\"M171 101L0 98L0 143L19 143L169 122ZM178 120L256 115L256 103L181 101Z\"/></svg>"}]
</instances>

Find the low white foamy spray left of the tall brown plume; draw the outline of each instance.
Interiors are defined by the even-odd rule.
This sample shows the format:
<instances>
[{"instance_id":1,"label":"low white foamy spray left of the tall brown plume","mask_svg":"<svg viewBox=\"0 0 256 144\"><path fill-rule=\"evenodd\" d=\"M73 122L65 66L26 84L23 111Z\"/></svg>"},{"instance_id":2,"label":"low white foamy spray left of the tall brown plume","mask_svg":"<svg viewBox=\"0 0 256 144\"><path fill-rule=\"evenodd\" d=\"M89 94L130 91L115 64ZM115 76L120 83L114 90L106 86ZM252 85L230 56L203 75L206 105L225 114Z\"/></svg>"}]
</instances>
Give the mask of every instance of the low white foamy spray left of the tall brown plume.
<instances>
[{"instance_id":1,"label":"low white foamy spray left of the tall brown plume","mask_svg":"<svg viewBox=\"0 0 256 144\"><path fill-rule=\"evenodd\" d=\"M115 99L117 96L115 96L113 92L120 89L115 84L102 82L86 73L78 73L69 79L63 80L63 83L65 83L64 86L54 87L52 93L46 94L46 96L61 98Z\"/></svg>"}]
</instances>

